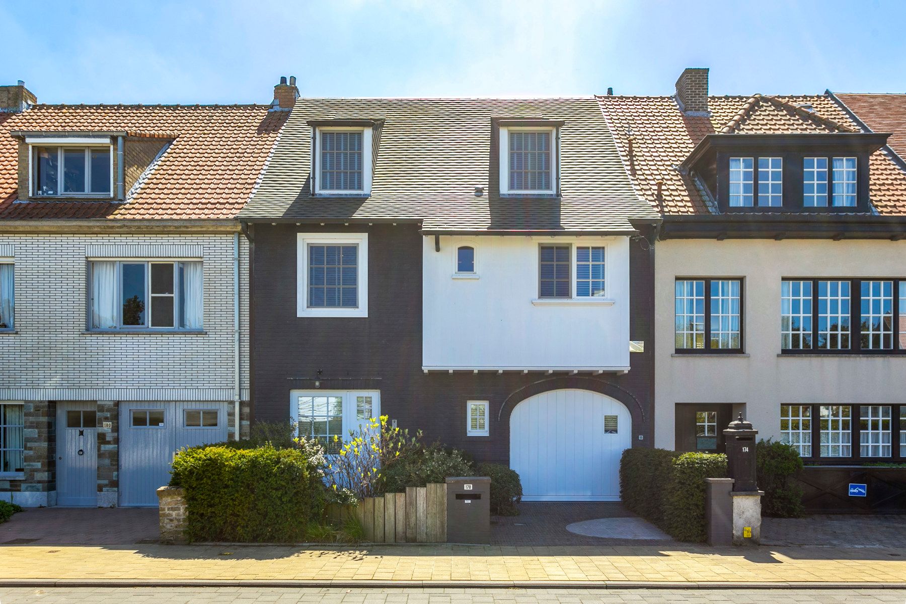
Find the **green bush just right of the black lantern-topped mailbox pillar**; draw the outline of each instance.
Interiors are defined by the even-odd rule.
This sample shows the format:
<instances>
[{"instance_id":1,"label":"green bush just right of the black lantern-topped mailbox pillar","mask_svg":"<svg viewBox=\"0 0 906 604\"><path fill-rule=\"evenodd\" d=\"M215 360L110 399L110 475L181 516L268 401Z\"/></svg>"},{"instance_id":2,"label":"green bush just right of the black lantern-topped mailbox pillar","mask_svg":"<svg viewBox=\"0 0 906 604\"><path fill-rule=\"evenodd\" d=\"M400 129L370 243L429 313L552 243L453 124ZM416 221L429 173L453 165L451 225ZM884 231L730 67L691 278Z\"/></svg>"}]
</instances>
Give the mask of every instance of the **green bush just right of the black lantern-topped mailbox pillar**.
<instances>
[{"instance_id":1,"label":"green bush just right of the black lantern-topped mailbox pillar","mask_svg":"<svg viewBox=\"0 0 906 604\"><path fill-rule=\"evenodd\" d=\"M790 478L802 467L802 457L793 446L768 438L756 446L758 488L765 492L761 512L776 518L799 518L805 513L803 490Z\"/></svg>"}]
</instances>

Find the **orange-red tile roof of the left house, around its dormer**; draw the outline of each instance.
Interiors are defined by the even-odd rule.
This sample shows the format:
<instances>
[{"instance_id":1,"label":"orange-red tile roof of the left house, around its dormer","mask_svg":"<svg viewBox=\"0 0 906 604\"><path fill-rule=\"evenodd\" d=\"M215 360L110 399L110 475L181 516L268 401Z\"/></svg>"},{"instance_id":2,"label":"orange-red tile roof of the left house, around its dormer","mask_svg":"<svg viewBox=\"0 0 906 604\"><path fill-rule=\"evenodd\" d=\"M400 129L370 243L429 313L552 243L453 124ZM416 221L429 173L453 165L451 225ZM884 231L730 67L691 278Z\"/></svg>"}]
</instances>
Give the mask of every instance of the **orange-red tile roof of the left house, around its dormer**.
<instances>
[{"instance_id":1,"label":"orange-red tile roof of the left house, around its dormer","mask_svg":"<svg viewBox=\"0 0 906 604\"><path fill-rule=\"evenodd\" d=\"M233 218L251 197L287 115L267 105L36 105L2 113L0 220ZM15 130L127 131L173 141L123 202L20 201Z\"/></svg>"}]
</instances>

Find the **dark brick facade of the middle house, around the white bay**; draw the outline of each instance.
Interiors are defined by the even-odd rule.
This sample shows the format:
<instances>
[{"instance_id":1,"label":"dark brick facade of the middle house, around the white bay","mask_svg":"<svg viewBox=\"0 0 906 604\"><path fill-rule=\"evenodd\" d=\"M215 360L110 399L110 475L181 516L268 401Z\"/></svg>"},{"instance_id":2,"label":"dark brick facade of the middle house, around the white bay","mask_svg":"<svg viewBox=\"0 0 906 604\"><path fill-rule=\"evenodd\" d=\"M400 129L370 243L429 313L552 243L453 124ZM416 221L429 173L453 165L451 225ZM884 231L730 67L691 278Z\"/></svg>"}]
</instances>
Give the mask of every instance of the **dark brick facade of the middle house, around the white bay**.
<instances>
[{"instance_id":1,"label":"dark brick facade of the middle house, around the white bay","mask_svg":"<svg viewBox=\"0 0 906 604\"><path fill-rule=\"evenodd\" d=\"M369 234L367 318L296 317L296 234L315 230ZM284 421L290 390L315 389L315 381L321 389L380 390L381 413L400 427L420 428L426 441L461 447L477 460L506 464L516 403L546 390L585 388L621 400L632 414L633 445L651 445L653 251L647 242L631 244L631 340L644 340L645 351L631 355L628 374L425 375L418 226L256 224L251 231L255 420ZM466 436L468 399L490 401L491 436Z\"/></svg>"}]
</instances>

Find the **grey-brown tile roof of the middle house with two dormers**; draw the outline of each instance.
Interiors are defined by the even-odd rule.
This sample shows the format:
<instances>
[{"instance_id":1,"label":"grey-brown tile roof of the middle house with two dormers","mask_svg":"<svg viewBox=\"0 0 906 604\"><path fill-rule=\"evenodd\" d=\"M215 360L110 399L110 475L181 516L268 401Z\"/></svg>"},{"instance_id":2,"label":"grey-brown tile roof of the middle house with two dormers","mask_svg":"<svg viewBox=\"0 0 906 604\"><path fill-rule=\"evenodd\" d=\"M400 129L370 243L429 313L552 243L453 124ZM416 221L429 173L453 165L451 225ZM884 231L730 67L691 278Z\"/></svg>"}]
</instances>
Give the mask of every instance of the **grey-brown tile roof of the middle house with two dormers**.
<instances>
[{"instance_id":1,"label":"grey-brown tile roof of the middle house with two dormers","mask_svg":"<svg viewBox=\"0 0 906 604\"><path fill-rule=\"evenodd\" d=\"M500 197L494 119L563 120L559 198ZM311 120L376 120L371 197L310 194ZM382 124L381 124L382 120ZM475 187L484 187L476 197ZM240 219L417 221L425 231L627 232L638 197L593 96L299 99Z\"/></svg>"}]
</instances>

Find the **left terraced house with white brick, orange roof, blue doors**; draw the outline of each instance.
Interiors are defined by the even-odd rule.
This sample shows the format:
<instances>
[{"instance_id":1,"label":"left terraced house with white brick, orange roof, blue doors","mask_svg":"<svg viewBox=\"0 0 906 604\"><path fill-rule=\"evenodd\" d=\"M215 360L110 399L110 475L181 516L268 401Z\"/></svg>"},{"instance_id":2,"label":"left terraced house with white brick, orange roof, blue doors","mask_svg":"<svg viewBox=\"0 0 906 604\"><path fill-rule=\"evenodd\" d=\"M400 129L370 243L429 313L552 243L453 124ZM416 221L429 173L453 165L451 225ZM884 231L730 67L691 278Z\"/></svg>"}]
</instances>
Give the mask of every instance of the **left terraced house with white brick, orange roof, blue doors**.
<instances>
[{"instance_id":1,"label":"left terraced house with white brick, orange roof, blue doors","mask_svg":"<svg viewBox=\"0 0 906 604\"><path fill-rule=\"evenodd\" d=\"M246 203L287 112L0 88L0 498L156 505L248 420Z\"/></svg>"}]
</instances>

